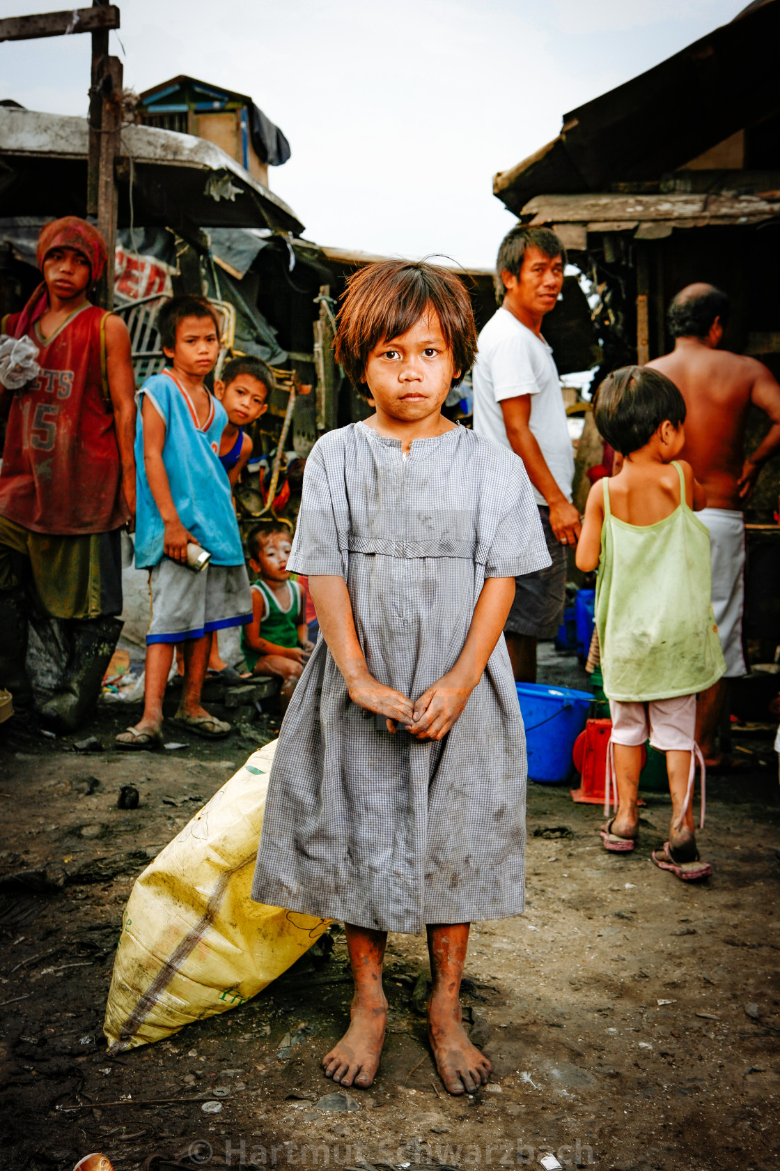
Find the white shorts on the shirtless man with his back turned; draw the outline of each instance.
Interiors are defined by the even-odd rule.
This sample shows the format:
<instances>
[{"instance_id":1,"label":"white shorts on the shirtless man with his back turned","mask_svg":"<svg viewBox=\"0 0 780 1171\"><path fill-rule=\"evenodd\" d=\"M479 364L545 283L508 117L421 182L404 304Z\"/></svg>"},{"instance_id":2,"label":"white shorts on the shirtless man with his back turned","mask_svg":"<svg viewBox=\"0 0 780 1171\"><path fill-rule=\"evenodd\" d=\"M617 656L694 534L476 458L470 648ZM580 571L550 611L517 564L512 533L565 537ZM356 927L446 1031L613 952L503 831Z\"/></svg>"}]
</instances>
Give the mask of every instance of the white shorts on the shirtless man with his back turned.
<instances>
[{"instance_id":1,"label":"white shorts on the shirtless man with his back turned","mask_svg":"<svg viewBox=\"0 0 780 1171\"><path fill-rule=\"evenodd\" d=\"M712 612L726 660L726 679L747 674L743 652L745 607L745 516L731 508L703 508L696 514L710 529Z\"/></svg>"}]
</instances>

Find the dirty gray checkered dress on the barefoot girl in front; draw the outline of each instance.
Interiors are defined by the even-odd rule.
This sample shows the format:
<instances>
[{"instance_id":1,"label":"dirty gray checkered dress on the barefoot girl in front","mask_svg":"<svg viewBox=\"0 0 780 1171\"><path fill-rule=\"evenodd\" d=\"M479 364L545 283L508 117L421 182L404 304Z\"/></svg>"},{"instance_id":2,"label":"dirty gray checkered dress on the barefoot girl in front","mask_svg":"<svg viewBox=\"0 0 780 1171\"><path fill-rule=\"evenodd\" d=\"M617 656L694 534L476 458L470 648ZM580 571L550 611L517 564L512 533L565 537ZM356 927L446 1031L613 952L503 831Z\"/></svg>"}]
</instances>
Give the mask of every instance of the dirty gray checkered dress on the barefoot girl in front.
<instances>
[{"instance_id":1,"label":"dirty gray checkered dress on the barefoot girl in front","mask_svg":"<svg viewBox=\"0 0 780 1171\"><path fill-rule=\"evenodd\" d=\"M464 427L357 423L306 460L289 568L338 574L371 673L416 699L458 658L485 577L550 564L523 463ZM441 741L356 706L322 635L284 717L253 898L363 927L519 915L525 734L503 637Z\"/></svg>"}]
</instances>

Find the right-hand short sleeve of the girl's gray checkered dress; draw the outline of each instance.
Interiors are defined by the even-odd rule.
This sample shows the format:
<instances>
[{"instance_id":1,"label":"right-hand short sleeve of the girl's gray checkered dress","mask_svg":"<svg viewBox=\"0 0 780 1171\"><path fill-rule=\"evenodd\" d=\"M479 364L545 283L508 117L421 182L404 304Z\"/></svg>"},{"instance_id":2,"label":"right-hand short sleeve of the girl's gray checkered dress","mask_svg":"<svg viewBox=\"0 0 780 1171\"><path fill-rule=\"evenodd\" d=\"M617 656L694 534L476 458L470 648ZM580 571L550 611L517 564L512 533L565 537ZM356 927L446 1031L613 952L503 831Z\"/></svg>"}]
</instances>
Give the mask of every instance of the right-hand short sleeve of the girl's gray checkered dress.
<instances>
[{"instance_id":1,"label":"right-hand short sleeve of the girl's gray checkered dress","mask_svg":"<svg viewBox=\"0 0 780 1171\"><path fill-rule=\"evenodd\" d=\"M501 478L498 520L485 560L485 577L520 577L552 564L531 481L517 457Z\"/></svg>"}]
</instances>

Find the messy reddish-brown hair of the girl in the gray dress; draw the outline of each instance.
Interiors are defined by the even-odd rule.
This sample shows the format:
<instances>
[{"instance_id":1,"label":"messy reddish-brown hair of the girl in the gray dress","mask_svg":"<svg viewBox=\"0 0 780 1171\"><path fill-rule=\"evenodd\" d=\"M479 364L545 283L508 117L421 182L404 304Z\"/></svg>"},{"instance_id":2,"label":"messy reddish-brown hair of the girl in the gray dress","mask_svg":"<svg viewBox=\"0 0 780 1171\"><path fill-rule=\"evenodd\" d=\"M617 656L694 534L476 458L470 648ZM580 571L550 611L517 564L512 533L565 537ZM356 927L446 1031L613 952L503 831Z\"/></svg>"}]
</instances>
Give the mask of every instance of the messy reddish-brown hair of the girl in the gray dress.
<instances>
[{"instance_id":1,"label":"messy reddish-brown hair of the girl in the gray dress","mask_svg":"<svg viewBox=\"0 0 780 1171\"><path fill-rule=\"evenodd\" d=\"M381 341L406 334L432 308L460 371L456 386L471 369L477 329L463 282L447 268L424 260L381 260L366 265L347 281L338 315L336 361L366 398L368 355Z\"/></svg>"}]
</instances>

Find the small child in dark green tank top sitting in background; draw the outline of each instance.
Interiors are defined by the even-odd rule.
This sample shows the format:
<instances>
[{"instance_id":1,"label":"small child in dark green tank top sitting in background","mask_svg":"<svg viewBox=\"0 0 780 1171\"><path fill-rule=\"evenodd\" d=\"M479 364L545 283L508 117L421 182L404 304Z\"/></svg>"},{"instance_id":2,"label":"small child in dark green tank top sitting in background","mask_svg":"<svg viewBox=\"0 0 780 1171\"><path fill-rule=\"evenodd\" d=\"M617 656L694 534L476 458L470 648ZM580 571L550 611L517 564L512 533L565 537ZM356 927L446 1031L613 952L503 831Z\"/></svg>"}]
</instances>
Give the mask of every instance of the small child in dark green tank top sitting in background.
<instances>
[{"instance_id":1,"label":"small child in dark green tank top sitting in background","mask_svg":"<svg viewBox=\"0 0 780 1171\"><path fill-rule=\"evenodd\" d=\"M290 581L287 562L290 534L278 521L257 525L248 539L251 583L251 622L242 628L241 648L253 674L282 678L287 707L303 667L315 649L306 626L306 594Z\"/></svg>"}]
</instances>

